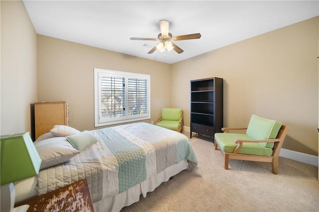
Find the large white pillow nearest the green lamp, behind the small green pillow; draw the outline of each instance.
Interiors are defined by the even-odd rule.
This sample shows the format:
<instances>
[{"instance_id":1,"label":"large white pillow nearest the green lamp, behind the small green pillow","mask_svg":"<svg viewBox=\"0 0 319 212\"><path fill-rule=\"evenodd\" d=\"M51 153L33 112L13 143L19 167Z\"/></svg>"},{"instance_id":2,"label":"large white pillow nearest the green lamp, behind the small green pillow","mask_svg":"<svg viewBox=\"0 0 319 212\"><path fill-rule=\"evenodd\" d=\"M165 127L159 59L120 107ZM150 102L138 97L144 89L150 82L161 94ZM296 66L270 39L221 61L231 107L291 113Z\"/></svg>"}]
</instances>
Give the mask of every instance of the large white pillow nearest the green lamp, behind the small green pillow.
<instances>
[{"instance_id":1,"label":"large white pillow nearest the green lamp, behind the small green pillow","mask_svg":"<svg viewBox=\"0 0 319 212\"><path fill-rule=\"evenodd\" d=\"M64 163L80 152L64 137L38 141L34 146L42 159L40 170Z\"/></svg>"}]
</instances>

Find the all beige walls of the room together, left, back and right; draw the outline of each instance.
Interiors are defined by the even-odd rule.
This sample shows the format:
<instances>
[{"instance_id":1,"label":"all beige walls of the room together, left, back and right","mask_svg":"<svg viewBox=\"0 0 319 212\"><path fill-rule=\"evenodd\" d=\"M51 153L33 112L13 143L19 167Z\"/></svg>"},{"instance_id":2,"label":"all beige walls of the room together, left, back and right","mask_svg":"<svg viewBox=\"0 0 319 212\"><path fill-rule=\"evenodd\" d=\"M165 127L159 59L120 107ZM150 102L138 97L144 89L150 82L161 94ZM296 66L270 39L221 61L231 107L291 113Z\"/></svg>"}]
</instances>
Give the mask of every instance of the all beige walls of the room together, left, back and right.
<instances>
[{"instance_id":1,"label":"all beige walls of the room together, left, back and right","mask_svg":"<svg viewBox=\"0 0 319 212\"><path fill-rule=\"evenodd\" d=\"M161 107L181 107L187 127L189 80L222 77L224 126L246 126L251 114L280 120L291 127L284 148L318 155L318 17L168 65L36 37L22 1L0 5L1 135L29 131L36 101L68 100L70 126L94 129L101 68L151 74L151 120Z\"/></svg>"}]
</instances>

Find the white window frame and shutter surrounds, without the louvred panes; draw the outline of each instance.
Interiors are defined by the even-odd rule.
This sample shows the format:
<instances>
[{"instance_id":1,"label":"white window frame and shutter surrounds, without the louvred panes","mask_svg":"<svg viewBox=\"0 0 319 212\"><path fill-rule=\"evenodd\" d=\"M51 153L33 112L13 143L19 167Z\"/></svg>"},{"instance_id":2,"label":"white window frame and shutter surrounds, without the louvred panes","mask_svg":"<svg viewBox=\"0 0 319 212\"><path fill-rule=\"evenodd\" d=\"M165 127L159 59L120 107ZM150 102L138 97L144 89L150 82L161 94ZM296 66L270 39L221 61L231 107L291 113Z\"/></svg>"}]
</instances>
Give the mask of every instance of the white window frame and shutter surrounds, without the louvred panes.
<instances>
[{"instance_id":1,"label":"white window frame and shutter surrounds, without the louvred panes","mask_svg":"<svg viewBox=\"0 0 319 212\"><path fill-rule=\"evenodd\" d=\"M125 108L126 114L116 118L102 118L102 88L101 76L124 77L125 78ZM147 80L147 110L146 114L129 115L129 78L146 79ZM94 69L94 126L101 127L126 122L134 122L140 120L151 119L151 75L141 73L131 73L123 71L112 71L104 69Z\"/></svg>"}]
</instances>

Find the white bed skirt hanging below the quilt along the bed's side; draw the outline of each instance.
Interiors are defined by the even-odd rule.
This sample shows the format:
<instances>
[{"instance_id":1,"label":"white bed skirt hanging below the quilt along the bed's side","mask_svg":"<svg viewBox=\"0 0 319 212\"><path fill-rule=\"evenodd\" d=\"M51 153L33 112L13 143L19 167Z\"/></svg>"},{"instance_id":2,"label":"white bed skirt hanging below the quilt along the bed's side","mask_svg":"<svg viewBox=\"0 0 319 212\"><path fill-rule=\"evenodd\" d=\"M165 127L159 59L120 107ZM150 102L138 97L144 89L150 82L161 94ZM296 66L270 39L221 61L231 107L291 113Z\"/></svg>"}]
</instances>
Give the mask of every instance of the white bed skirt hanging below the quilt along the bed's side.
<instances>
[{"instance_id":1,"label":"white bed skirt hanging below the quilt along the bed's side","mask_svg":"<svg viewBox=\"0 0 319 212\"><path fill-rule=\"evenodd\" d=\"M165 168L155 176L152 176L142 183L128 189L125 192L115 196L106 197L96 203L93 203L96 212L119 212L123 207L132 205L140 200L140 195L146 197L148 192L153 192L162 182L166 182L170 177L187 169L187 160L182 160L177 164Z\"/></svg>"}]
</instances>

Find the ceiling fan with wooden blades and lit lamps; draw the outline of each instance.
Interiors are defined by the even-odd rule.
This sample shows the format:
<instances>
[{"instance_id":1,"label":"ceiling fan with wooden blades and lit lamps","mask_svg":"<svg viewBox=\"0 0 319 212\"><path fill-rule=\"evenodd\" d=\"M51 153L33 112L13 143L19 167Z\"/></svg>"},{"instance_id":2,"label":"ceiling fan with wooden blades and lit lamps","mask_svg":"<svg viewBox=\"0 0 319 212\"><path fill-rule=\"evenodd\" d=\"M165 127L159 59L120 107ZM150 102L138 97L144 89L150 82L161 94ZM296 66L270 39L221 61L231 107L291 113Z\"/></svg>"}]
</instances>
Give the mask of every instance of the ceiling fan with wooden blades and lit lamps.
<instances>
[{"instance_id":1,"label":"ceiling fan with wooden blades and lit lamps","mask_svg":"<svg viewBox=\"0 0 319 212\"><path fill-rule=\"evenodd\" d=\"M172 36L168 32L169 22L166 20L160 20L160 34L158 38L130 38L131 40L147 40L147 41L160 41L158 45L156 45L153 49L151 49L148 54L152 54L155 50L159 50L160 52L165 53L166 51L174 50L178 54L182 53L184 50L179 48L176 44L171 41L180 41L180 40L189 40L189 39L198 39L201 37L200 33L189 34L189 35L179 35Z\"/></svg>"}]
</instances>

